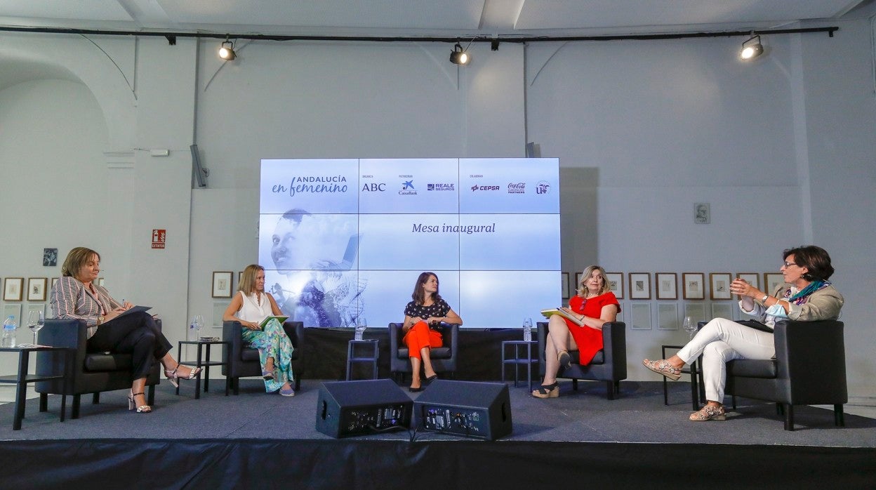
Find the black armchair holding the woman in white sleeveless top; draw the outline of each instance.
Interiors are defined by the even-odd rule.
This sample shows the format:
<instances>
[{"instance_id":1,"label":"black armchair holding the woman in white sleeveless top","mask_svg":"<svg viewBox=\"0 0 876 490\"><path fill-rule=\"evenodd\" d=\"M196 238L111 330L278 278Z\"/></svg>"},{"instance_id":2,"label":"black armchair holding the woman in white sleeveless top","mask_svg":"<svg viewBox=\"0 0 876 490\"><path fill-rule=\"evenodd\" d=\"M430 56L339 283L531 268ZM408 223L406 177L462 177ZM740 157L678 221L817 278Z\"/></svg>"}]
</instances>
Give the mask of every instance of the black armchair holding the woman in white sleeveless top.
<instances>
[{"instance_id":1,"label":"black armchair holding the woman in white sleeveless top","mask_svg":"<svg viewBox=\"0 0 876 490\"><path fill-rule=\"evenodd\" d=\"M240 378L262 375L262 365L258 359L258 349L253 349L244 342L241 335L243 326L240 322L223 322L222 339L228 342L223 349L222 373L225 375L225 395L230 389L234 394L240 394ZM292 372L295 377L295 391L301 387L301 376L304 375L304 323L283 323L286 336L292 341Z\"/></svg>"}]
</instances>

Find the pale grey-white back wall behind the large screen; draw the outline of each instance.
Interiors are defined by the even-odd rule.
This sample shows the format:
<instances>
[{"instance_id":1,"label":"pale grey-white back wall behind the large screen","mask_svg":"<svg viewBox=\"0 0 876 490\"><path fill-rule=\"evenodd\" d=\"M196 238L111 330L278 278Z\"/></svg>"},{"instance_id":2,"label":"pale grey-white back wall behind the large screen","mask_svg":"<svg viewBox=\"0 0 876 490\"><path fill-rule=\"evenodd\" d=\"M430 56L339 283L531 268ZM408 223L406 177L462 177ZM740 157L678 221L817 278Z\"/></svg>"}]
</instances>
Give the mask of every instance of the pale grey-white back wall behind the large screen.
<instances>
[{"instance_id":1,"label":"pale grey-white back wall behind the large screen","mask_svg":"<svg viewBox=\"0 0 876 490\"><path fill-rule=\"evenodd\" d=\"M223 64L213 42L104 39L111 63L85 43L4 34L0 53L65 67L85 84L63 82L55 98L40 84L60 82L0 88L0 169L4 188L26 188L34 175L20 163L25 154L45 151L57 170L76 148L90 152L77 168L106 201L66 211L131 217L118 224L122 234L91 245L114 293L152 302L175 343L187 316L222 309L209 297L211 273L237 276L256 259L260 159L520 156L528 139L561 159L569 272L598 262L623 273L765 273L778 270L783 248L825 246L848 300L850 390L874 396L864 312L876 238L871 27L839 25L833 39L765 39L768 56L753 64L736 60L738 39L688 39L475 46L466 68L450 65L441 44L253 42ZM82 66L54 54L71 50ZM91 136L18 128L19 119L65 113L85 117ZM211 170L208 189L189 188L193 141ZM150 156L157 148L170 156ZM710 202L711 224L693 223L694 202ZM4 230L33 221L3 219ZM0 276L48 275L28 254L54 246L49 239L63 254L88 237L49 205L37 220L49 234L4 249ZM153 227L168 229L165 252L147 248L143 233ZM117 283L109 271L122 276ZM623 303L628 314L632 301ZM657 330L658 302L650 304L653 330L628 336L631 380L655 379L639 359L685 337Z\"/></svg>"}]
</instances>

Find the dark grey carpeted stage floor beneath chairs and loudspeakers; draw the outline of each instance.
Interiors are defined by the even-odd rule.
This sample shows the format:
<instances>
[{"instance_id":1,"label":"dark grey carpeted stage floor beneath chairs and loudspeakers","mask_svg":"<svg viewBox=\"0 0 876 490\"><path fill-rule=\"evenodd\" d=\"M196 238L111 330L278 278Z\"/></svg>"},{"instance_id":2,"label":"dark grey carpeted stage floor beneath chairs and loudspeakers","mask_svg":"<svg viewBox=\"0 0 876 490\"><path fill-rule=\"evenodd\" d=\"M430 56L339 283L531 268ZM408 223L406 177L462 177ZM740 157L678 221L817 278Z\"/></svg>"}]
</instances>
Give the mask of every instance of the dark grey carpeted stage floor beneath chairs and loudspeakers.
<instances>
[{"instance_id":1,"label":"dark grey carpeted stage floor beneath chairs and loudspeakers","mask_svg":"<svg viewBox=\"0 0 876 490\"><path fill-rule=\"evenodd\" d=\"M292 398L265 394L260 380L241 380L241 394L224 395L224 383L212 380L211 391L194 399L194 382L184 382L180 395L162 382L156 389L151 414L127 410L124 391L104 393L98 405L83 395L79 419L60 423L60 397L49 397L48 412L40 413L38 400L27 402L22 430L11 430L12 403L0 406L0 440L58 439L331 439L315 430L319 380L302 380ZM829 409L795 408L795 430L783 430L775 405L739 399L724 422L692 423L689 384L670 383L670 405L663 405L660 382L621 382L621 393L609 401L604 385L561 382L561 396L540 400L521 383L508 383L512 406L512 434L503 441L587 443L745 444L820 447L876 447L876 420L845 415L845 427L833 425ZM421 394L410 394L413 400ZM71 401L68 397L67 405ZM69 415L69 408L68 415ZM407 431L355 437L359 440L409 440ZM420 432L417 441L463 439Z\"/></svg>"}]
</instances>

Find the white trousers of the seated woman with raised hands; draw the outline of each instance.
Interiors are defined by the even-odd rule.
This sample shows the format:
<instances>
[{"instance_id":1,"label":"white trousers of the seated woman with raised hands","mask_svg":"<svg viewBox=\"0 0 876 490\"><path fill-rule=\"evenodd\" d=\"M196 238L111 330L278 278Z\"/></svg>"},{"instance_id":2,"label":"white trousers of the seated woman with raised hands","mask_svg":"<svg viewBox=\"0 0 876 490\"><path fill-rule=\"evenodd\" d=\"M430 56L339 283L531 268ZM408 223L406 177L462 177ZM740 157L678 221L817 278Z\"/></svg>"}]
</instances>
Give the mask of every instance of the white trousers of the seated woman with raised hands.
<instances>
[{"instance_id":1,"label":"white trousers of the seated woman with raised hands","mask_svg":"<svg viewBox=\"0 0 876 490\"><path fill-rule=\"evenodd\" d=\"M733 359L772 359L773 334L754 330L731 320L715 318L677 353L685 364L703 355L703 384L706 400L724 403L727 362Z\"/></svg>"}]
</instances>

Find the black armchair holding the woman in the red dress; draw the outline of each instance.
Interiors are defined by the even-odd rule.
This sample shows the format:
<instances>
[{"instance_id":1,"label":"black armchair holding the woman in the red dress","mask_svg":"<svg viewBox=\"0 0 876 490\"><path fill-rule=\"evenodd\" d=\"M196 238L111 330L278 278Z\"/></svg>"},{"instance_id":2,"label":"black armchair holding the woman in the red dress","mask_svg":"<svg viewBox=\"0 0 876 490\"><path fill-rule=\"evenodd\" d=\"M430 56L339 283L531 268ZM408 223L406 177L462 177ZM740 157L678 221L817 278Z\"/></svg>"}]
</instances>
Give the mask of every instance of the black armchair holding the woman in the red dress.
<instances>
[{"instance_id":1,"label":"black armchair holding the woman in the red dress","mask_svg":"<svg viewBox=\"0 0 876 490\"><path fill-rule=\"evenodd\" d=\"M539 340L539 371L545 373L545 345L548 337L548 323L538 323ZM609 400L620 392L620 381L626 379L626 323L608 322L603 324L603 349L597 352L590 364L578 364L578 352L569 352L572 365L560 367L557 378L571 378L572 388L578 389L578 380L596 380L605 382L605 391Z\"/></svg>"}]
</instances>

